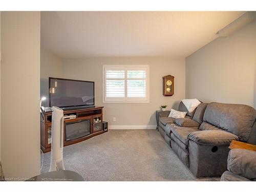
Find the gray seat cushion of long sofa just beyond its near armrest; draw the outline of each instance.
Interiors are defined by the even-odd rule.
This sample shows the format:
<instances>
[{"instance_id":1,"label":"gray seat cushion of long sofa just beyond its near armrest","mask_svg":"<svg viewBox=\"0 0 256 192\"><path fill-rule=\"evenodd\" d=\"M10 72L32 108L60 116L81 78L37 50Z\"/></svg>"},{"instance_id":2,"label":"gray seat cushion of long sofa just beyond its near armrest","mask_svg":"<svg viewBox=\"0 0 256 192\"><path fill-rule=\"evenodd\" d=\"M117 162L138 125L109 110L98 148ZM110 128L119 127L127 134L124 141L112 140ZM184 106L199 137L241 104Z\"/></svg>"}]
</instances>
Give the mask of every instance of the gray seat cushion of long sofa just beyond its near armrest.
<instances>
[{"instance_id":1,"label":"gray seat cushion of long sofa just beyond its near armrest","mask_svg":"<svg viewBox=\"0 0 256 192\"><path fill-rule=\"evenodd\" d=\"M187 136L192 132L199 131L197 127L183 127L183 126L177 126L177 125L172 125L170 127L170 130L172 131L172 134L174 134L185 145L188 145ZM171 134L171 138L172 138L172 134Z\"/></svg>"}]
</instances>

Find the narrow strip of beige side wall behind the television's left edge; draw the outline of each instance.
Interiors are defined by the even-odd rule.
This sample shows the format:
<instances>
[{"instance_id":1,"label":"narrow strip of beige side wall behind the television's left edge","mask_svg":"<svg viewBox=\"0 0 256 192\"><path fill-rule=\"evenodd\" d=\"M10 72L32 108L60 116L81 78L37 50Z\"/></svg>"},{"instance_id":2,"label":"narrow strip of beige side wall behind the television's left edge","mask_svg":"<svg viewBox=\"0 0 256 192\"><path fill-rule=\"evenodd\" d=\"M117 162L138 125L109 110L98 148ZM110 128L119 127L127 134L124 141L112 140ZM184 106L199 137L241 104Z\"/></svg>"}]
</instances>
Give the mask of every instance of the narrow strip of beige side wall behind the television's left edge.
<instances>
[{"instance_id":1,"label":"narrow strip of beige side wall behind the television's left edge","mask_svg":"<svg viewBox=\"0 0 256 192\"><path fill-rule=\"evenodd\" d=\"M49 77L61 77L63 74L62 59L41 48L40 55L40 96L47 97L42 106L49 106Z\"/></svg>"}]
</instances>

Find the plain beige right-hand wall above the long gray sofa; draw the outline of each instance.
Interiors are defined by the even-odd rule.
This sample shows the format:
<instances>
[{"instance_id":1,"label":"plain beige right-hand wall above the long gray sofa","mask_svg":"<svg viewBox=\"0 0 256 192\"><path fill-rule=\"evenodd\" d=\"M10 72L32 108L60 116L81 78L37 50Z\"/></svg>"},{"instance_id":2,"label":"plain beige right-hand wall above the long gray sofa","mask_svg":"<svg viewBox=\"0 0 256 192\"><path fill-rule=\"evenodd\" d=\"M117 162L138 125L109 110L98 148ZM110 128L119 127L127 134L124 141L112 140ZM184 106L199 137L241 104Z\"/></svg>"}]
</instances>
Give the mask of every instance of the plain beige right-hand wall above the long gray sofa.
<instances>
[{"instance_id":1,"label":"plain beige right-hand wall above the long gray sofa","mask_svg":"<svg viewBox=\"0 0 256 192\"><path fill-rule=\"evenodd\" d=\"M256 22L186 58L186 98L256 108Z\"/></svg>"}]
</instances>

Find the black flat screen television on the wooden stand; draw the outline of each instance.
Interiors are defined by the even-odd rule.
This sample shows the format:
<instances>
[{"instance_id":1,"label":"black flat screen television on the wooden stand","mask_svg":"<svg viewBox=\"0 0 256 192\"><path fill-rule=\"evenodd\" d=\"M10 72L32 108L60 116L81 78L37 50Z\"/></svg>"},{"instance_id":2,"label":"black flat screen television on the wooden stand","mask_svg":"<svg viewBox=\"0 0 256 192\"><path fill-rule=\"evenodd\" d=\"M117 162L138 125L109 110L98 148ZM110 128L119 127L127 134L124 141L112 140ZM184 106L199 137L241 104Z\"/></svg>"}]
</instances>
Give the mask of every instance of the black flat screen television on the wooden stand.
<instances>
[{"instance_id":1,"label":"black flat screen television on the wooden stand","mask_svg":"<svg viewBox=\"0 0 256 192\"><path fill-rule=\"evenodd\" d=\"M49 77L49 106L63 110L94 107L94 82Z\"/></svg>"}]
</instances>

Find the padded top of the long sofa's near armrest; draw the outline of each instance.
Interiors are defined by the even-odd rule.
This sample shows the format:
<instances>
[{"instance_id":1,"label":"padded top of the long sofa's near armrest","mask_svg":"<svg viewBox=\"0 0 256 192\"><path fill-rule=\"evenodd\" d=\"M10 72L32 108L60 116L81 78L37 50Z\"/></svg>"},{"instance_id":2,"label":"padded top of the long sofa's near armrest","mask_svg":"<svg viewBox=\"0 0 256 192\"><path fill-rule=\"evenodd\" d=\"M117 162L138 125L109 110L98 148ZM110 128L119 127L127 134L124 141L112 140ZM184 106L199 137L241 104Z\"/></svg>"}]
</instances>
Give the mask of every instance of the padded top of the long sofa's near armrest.
<instances>
[{"instance_id":1,"label":"padded top of the long sofa's near armrest","mask_svg":"<svg viewBox=\"0 0 256 192\"><path fill-rule=\"evenodd\" d=\"M232 140L238 140L238 136L226 131L207 130L192 132L188 139L203 145L229 145Z\"/></svg>"}]
</instances>

